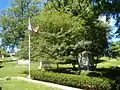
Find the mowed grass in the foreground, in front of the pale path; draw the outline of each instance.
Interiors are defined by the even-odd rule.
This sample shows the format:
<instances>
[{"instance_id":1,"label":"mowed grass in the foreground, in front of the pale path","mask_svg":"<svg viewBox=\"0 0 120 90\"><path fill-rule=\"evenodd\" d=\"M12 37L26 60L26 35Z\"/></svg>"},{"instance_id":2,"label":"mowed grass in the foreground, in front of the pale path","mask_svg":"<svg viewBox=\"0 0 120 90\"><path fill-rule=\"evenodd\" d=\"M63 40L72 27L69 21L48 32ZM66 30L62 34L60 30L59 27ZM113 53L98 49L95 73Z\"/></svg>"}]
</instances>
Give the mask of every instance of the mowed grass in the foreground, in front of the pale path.
<instances>
[{"instance_id":1,"label":"mowed grass in the foreground, in front of the pale path","mask_svg":"<svg viewBox=\"0 0 120 90\"><path fill-rule=\"evenodd\" d=\"M12 79L9 81L0 81L2 90L60 90L58 88L48 87L42 84L34 84L26 81Z\"/></svg>"}]
</instances>

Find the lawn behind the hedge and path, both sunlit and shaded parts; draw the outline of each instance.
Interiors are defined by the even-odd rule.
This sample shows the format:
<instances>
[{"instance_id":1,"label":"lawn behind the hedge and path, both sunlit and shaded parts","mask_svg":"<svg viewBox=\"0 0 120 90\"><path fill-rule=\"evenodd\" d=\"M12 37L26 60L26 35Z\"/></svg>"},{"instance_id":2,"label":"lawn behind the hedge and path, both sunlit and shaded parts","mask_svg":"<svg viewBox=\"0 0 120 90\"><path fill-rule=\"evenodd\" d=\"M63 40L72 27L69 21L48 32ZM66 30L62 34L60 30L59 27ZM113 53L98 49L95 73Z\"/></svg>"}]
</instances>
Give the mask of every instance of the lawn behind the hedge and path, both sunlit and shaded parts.
<instances>
[{"instance_id":1,"label":"lawn behind the hedge and path, both sunlit and shaded parts","mask_svg":"<svg viewBox=\"0 0 120 90\"><path fill-rule=\"evenodd\" d=\"M23 74L23 71L28 71L28 66L23 66L23 65L18 65L16 63L16 61L14 62L4 62L3 63L4 67L0 68L0 78L4 78L6 76L10 76L10 77L16 77L16 76L22 76L22 77L27 77L26 74ZM31 70L35 70L38 69L39 66L39 62L37 63L31 63ZM74 72L70 72L69 70L67 70L67 68L72 68L71 64L61 64L59 65L59 69L56 70L56 65L53 65L54 69L52 71L58 72L58 73L73 73L73 74L77 74L77 71ZM116 60L114 58L109 59L107 57L102 57L99 60L99 63L97 64L97 69L96 71L94 71L95 73L103 73L103 77L107 77L107 78L111 78L113 77L113 72L114 72L114 79L116 78L116 76L120 75L120 69L113 69L113 66L120 66L120 60ZM91 74L91 72L89 71L81 71L80 75L87 75L87 76L94 76L93 73ZM95 75L96 76L96 75ZM98 75L97 75L98 76ZM99 75L101 76L101 75Z\"/></svg>"}]
</instances>

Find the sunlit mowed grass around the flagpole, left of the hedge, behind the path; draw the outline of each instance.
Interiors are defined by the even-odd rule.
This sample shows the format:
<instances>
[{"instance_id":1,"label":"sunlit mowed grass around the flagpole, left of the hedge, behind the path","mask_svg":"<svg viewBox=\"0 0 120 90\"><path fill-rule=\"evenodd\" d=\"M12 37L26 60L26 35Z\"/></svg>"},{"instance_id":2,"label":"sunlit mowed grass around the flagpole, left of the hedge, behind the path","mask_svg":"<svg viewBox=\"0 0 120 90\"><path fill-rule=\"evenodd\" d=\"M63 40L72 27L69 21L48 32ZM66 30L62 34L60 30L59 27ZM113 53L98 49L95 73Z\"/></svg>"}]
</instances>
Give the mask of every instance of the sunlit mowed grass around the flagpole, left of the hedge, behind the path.
<instances>
[{"instance_id":1,"label":"sunlit mowed grass around the flagpole, left of the hedge, behind the path","mask_svg":"<svg viewBox=\"0 0 120 90\"><path fill-rule=\"evenodd\" d=\"M4 67L0 68L0 78L4 78L7 76L16 77L22 76L27 77L26 74L23 74L24 71L28 70L28 66L18 65L16 61L14 62L4 62L2 64ZM31 70L37 69L39 63L32 63Z\"/></svg>"}]
</instances>

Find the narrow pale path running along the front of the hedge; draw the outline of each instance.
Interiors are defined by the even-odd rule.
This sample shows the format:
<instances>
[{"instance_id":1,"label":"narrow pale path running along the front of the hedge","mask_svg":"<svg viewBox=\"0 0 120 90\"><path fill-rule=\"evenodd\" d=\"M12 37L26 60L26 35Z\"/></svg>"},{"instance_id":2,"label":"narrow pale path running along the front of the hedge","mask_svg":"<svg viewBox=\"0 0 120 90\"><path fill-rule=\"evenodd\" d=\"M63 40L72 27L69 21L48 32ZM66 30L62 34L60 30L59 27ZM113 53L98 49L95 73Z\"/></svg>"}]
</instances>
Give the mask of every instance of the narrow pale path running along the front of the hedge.
<instances>
[{"instance_id":1,"label":"narrow pale path running along the front of the hedge","mask_svg":"<svg viewBox=\"0 0 120 90\"><path fill-rule=\"evenodd\" d=\"M24 77L12 77L12 79L19 79L19 80L24 80L24 81L28 81L28 82L31 82L31 83L37 83L37 84L44 84L44 85L47 85L47 86L50 86L50 87L59 88L61 90L82 90L82 89L78 89L78 88L53 84L53 83L49 83L49 82L32 80L32 79L28 79L28 78L24 78Z\"/></svg>"}]
</instances>

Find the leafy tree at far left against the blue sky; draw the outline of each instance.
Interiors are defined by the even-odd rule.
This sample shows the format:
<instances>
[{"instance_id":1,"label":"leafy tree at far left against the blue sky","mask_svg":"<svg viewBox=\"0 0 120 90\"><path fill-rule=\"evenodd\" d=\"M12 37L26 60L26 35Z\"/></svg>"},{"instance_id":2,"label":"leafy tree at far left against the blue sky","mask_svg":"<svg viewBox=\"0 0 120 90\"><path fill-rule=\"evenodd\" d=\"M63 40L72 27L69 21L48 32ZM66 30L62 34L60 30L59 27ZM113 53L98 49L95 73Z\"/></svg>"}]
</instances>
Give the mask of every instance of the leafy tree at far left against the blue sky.
<instances>
[{"instance_id":1,"label":"leafy tree at far left against the blue sky","mask_svg":"<svg viewBox=\"0 0 120 90\"><path fill-rule=\"evenodd\" d=\"M25 37L28 17L40 13L39 0L12 0L11 7L0 18L2 45L16 47Z\"/></svg>"}]
</instances>

